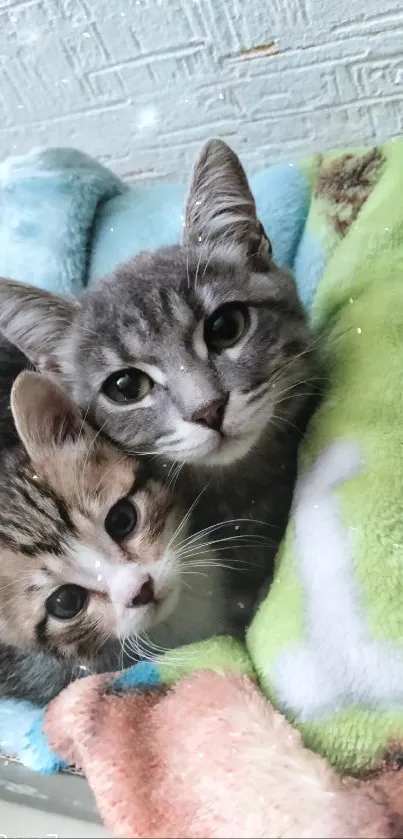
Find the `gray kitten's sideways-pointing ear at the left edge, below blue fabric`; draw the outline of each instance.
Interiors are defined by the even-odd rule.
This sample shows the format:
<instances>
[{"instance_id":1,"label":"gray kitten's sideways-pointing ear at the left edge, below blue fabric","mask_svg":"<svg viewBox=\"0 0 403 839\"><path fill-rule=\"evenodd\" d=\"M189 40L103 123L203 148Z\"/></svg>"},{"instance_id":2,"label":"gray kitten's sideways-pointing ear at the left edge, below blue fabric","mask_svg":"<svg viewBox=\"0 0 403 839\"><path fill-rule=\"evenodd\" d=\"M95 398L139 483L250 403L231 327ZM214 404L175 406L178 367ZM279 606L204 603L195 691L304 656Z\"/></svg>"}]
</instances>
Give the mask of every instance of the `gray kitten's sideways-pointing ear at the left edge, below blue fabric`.
<instances>
[{"instance_id":1,"label":"gray kitten's sideways-pointing ear at the left edge, below blue fabric","mask_svg":"<svg viewBox=\"0 0 403 839\"><path fill-rule=\"evenodd\" d=\"M79 305L0 278L0 329L39 369L57 370L58 349Z\"/></svg>"}]
</instances>

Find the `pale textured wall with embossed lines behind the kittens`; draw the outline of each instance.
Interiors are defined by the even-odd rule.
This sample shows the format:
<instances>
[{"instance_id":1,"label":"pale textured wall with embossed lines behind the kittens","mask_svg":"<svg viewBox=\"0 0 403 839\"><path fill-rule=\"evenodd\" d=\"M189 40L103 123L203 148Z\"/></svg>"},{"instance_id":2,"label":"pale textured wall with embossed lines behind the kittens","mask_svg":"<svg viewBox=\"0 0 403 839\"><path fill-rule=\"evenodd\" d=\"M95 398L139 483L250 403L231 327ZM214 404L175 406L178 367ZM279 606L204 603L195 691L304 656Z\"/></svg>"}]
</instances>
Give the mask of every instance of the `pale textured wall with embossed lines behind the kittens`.
<instances>
[{"instance_id":1,"label":"pale textured wall with embossed lines behind the kittens","mask_svg":"<svg viewBox=\"0 0 403 839\"><path fill-rule=\"evenodd\" d=\"M402 133L402 0L0 0L0 157L75 145L183 177Z\"/></svg>"}]
</instances>

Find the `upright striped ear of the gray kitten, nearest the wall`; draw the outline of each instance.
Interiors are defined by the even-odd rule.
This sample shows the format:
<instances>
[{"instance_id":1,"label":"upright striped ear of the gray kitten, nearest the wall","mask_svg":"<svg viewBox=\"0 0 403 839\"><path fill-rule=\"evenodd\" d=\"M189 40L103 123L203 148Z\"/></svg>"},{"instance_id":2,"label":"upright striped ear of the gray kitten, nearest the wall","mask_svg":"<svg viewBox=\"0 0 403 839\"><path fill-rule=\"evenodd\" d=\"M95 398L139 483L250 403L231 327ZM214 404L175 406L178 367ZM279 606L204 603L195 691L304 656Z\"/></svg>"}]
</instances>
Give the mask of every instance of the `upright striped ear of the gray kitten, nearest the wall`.
<instances>
[{"instance_id":1,"label":"upright striped ear of the gray kitten, nearest the wall","mask_svg":"<svg viewBox=\"0 0 403 839\"><path fill-rule=\"evenodd\" d=\"M222 140L209 140L193 171L183 244L217 245L247 262L268 265L271 245L256 215L255 199L239 158Z\"/></svg>"}]
</instances>

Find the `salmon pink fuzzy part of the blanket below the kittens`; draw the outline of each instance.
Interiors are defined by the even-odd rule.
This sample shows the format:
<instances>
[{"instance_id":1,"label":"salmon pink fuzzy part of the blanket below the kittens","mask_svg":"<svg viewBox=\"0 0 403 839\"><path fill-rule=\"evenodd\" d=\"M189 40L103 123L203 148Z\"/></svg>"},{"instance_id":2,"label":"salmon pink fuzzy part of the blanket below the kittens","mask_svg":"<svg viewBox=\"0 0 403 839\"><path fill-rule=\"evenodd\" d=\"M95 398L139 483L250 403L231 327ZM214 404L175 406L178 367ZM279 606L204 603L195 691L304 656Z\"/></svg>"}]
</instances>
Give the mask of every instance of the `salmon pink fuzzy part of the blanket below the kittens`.
<instances>
[{"instance_id":1,"label":"salmon pink fuzzy part of the blanket below the kittens","mask_svg":"<svg viewBox=\"0 0 403 839\"><path fill-rule=\"evenodd\" d=\"M403 836L397 751L370 777L342 778L247 676L199 671L129 693L91 676L50 704L46 731L114 836Z\"/></svg>"}]
</instances>

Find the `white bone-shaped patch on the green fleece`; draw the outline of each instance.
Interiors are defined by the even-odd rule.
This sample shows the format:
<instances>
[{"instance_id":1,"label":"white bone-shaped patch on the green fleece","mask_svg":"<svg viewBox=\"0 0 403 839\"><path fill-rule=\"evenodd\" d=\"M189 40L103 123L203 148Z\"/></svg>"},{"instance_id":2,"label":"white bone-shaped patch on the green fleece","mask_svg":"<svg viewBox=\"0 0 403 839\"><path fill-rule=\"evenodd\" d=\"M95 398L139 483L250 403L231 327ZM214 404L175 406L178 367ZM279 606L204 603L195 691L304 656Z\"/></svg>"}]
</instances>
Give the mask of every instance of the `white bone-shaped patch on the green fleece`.
<instances>
[{"instance_id":1,"label":"white bone-shaped patch on the green fleece","mask_svg":"<svg viewBox=\"0 0 403 839\"><path fill-rule=\"evenodd\" d=\"M305 639L279 655L270 677L280 708L301 722L351 704L403 704L403 649L370 638L353 573L354 534L340 519L334 492L363 465L358 445L339 441L297 482L293 518Z\"/></svg>"}]
</instances>

